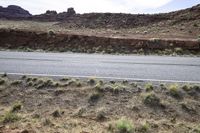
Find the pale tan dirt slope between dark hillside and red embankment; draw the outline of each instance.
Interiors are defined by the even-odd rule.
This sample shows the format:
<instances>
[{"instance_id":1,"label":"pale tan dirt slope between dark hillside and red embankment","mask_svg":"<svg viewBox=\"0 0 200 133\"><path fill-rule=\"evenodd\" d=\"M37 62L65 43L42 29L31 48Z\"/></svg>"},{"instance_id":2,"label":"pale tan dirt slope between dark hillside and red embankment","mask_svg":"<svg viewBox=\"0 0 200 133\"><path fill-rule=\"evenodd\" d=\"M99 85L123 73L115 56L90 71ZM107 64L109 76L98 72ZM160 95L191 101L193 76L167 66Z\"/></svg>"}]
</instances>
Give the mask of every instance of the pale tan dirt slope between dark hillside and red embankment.
<instances>
[{"instance_id":1,"label":"pale tan dirt slope between dark hillside and red embankment","mask_svg":"<svg viewBox=\"0 0 200 133\"><path fill-rule=\"evenodd\" d=\"M0 20L0 29L18 29L28 31L53 31L60 34L91 35L99 37L119 38L160 38L160 39L198 39L200 35L200 21L194 20L172 25L171 21L162 21L153 25L135 28L109 29L109 28L76 28L60 22L37 22L37 21L12 21Z\"/></svg>"}]
</instances>

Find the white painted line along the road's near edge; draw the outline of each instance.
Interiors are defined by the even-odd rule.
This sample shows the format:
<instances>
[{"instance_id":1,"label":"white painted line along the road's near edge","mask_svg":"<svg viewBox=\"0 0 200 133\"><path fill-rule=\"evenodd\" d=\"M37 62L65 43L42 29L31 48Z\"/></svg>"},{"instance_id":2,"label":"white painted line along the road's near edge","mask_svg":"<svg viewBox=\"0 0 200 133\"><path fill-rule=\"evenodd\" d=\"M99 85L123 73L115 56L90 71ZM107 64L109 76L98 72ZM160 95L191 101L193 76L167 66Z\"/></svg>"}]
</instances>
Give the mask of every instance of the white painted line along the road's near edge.
<instances>
[{"instance_id":1,"label":"white painted line along the road's near edge","mask_svg":"<svg viewBox=\"0 0 200 133\"><path fill-rule=\"evenodd\" d=\"M0 72L4 74L5 72ZM136 82L169 82L169 83L193 83L200 84L200 81L181 81L181 80L159 80L159 79L139 79L139 78L120 78L120 77L97 77L97 76L80 76L80 75L53 75L53 74L31 74L31 73L6 73L8 75L27 75L27 76L40 76L40 77L71 77L71 78L96 78L107 80L129 80Z\"/></svg>"}]
</instances>

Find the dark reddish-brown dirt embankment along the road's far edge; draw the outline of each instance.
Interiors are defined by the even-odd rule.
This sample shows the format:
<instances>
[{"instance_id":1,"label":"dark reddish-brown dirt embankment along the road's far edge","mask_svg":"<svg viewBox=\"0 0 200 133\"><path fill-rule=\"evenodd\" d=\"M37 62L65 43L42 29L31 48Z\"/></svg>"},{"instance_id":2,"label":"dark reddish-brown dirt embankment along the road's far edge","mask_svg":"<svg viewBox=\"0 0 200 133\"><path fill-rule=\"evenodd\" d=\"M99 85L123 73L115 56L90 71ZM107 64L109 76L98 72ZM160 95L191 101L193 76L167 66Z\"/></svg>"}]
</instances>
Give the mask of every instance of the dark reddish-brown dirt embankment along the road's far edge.
<instances>
[{"instance_id":1,"label":"dark reddish-brown dirt embankment along the road's far edge","mask_svg":"<svg viewBox=\"0 0 200 133\"><path fill-rule=\"evenodd\" d=\"M22 30L0 30L0 47L6 49L43 49L61 52L87 52L87 53L137 53L148 54L152 51L177 50L199 52L198 40L179 39L143 39L123 37L102 37L76 34L55 34L50 31L33 32Z\"/></svg>"}]
</instances>

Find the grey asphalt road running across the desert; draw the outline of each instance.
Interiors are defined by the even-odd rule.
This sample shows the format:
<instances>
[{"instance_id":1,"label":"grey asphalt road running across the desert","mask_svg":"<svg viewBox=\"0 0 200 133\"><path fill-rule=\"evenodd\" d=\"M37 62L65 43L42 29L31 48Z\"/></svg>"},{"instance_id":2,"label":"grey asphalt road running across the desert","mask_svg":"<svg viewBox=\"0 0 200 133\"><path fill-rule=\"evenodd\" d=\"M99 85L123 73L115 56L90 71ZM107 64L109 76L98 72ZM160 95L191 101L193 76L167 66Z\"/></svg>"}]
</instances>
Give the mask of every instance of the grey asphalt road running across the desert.
<instances>
[{"instance_id":1,"label":"grey asphalt road running across the desert","mask_svg":"<svg viewBox=\"0 0 200 133\"><path fill-rule=\"evenodd\" d=\"M0 73L200 83L200 58L0 51Z\"/></svg>"}]
</instances>

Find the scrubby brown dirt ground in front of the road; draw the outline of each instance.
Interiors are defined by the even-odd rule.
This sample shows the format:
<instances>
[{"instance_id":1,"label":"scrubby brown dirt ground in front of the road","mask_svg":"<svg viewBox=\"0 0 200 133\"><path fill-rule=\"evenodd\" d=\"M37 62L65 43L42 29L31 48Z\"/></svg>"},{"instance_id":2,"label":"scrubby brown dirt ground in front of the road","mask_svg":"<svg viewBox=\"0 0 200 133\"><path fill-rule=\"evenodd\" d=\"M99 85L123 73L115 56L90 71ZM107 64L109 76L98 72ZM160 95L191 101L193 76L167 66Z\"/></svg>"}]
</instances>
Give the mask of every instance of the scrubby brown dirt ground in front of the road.
<instances>
[{"instance_id":1,"label":"scrubby brown dirt ground in front of the road","mask_svg":"<svg viewBox=\"0 0 200 133\"><path fill-rule=\"evenodd\" d=\"M0 78L1 133L199 133L200 85Z\"/></svg>"}]
</instances>

